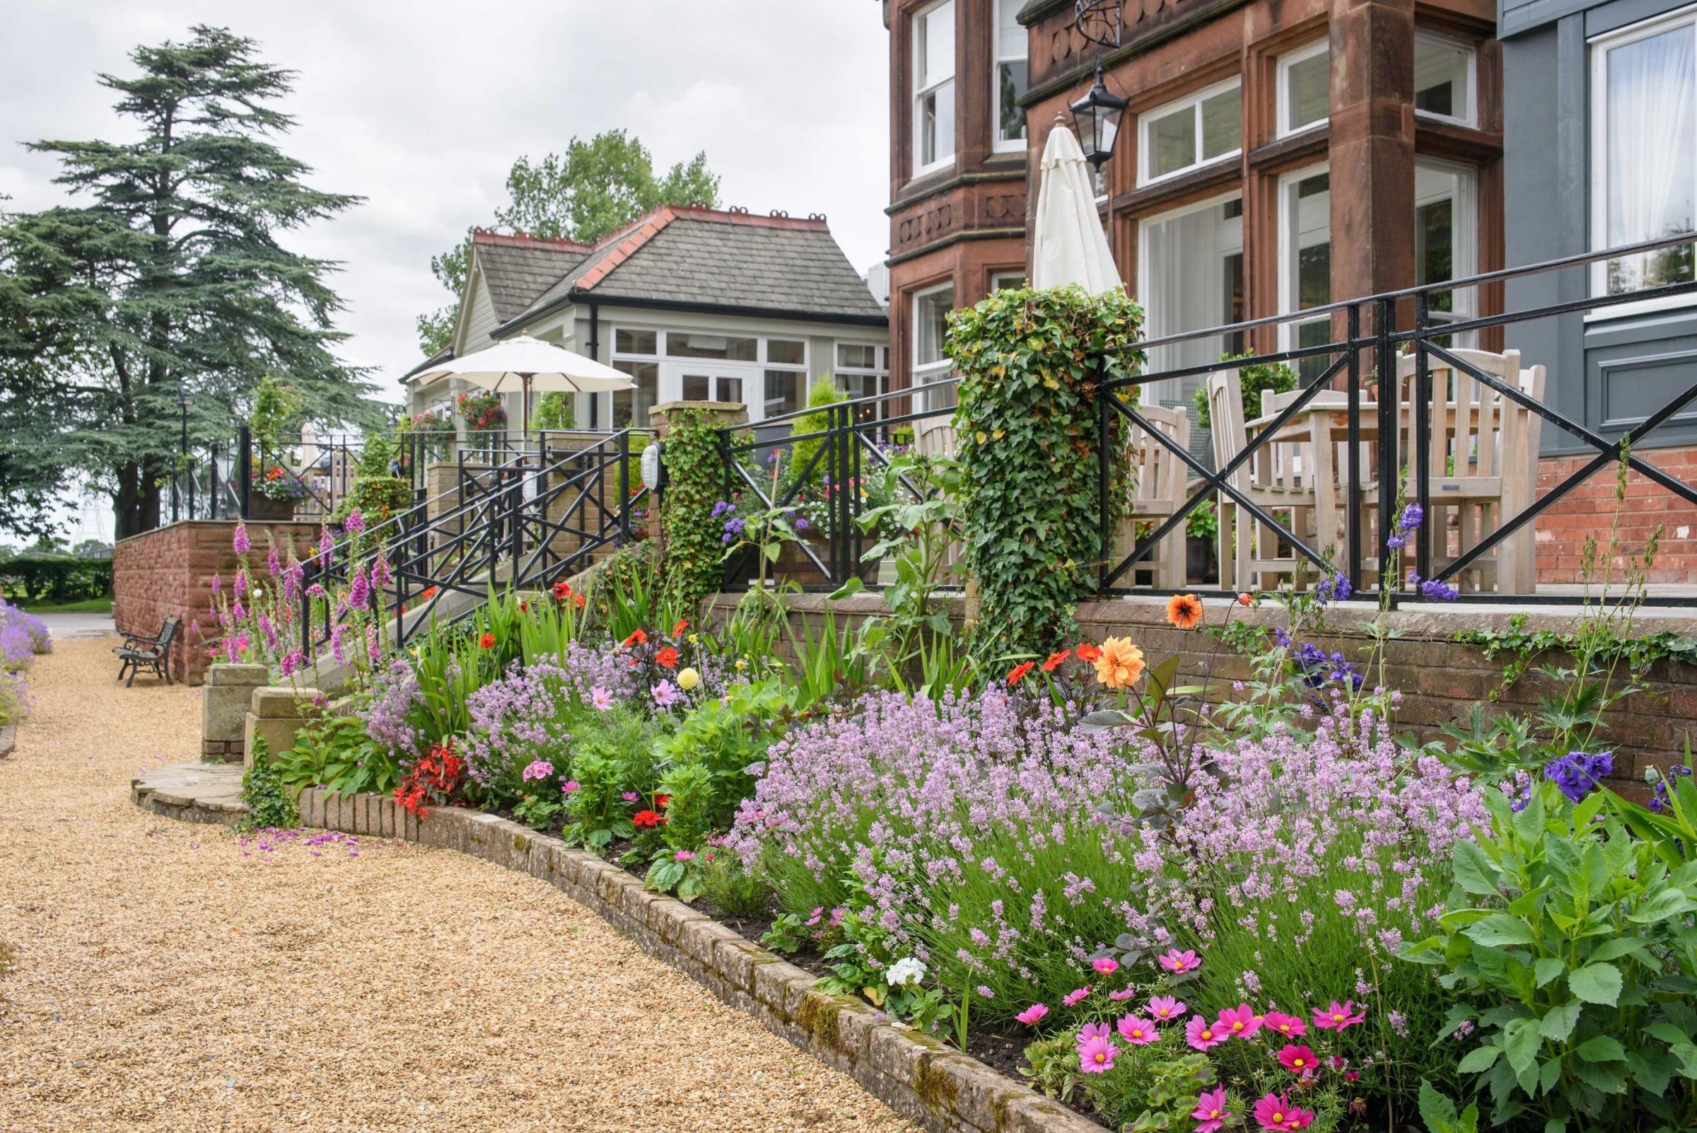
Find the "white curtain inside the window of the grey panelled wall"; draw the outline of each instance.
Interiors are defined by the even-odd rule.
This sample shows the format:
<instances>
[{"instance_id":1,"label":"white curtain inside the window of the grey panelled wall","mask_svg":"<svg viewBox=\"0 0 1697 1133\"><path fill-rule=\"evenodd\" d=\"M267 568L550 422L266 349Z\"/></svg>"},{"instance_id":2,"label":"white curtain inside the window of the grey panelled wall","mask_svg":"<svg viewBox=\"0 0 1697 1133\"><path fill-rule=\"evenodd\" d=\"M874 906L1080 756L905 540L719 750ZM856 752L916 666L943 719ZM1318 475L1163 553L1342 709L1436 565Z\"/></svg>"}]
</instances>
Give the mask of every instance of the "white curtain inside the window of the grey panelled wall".
<instances>
[{"instance_id":1,"label":"white curtain inside the window of the grey panelled wall","mask_svg":"<svg viewBox=\"0 0 1697 1133\"><path fill-rule=\"evenodd\" d=\"M1607 68L1609 244L1687 232L1697 222L1697 32L1685 24L1610 47ZM1670 282L1656 278L1666 258L1610 263L1609 290Z\"/></svg>"}]
</instances>

